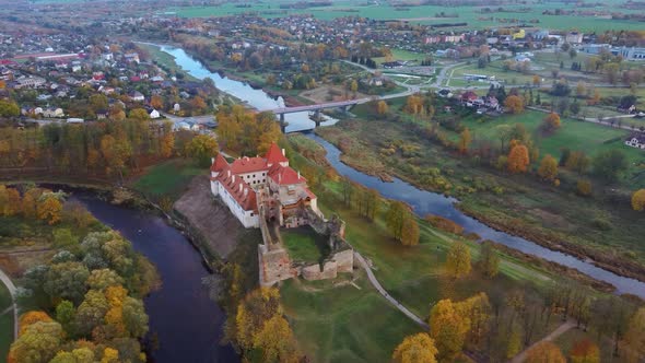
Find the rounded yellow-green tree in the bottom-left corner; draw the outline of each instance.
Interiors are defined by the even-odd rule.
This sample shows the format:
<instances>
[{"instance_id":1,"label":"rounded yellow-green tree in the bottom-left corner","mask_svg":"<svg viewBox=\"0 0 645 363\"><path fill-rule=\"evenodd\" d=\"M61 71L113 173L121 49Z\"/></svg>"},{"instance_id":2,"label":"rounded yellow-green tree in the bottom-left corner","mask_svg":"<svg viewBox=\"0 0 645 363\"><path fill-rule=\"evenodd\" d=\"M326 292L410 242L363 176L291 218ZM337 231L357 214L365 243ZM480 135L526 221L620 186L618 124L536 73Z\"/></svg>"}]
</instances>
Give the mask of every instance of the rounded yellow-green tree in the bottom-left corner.
<instances>
[{"instance_id":1,"label":"rounded yellow-green tree in the bottom-left corner","mask_svg":"<svg viewBox=\"0 0 645 363\"><path fill-rule=\"evenodd\" d=\"M35 323L11 344L8 362L49 362L60 349L63 337L64 332L60 324Z\"/></svg>"}]
</instances>

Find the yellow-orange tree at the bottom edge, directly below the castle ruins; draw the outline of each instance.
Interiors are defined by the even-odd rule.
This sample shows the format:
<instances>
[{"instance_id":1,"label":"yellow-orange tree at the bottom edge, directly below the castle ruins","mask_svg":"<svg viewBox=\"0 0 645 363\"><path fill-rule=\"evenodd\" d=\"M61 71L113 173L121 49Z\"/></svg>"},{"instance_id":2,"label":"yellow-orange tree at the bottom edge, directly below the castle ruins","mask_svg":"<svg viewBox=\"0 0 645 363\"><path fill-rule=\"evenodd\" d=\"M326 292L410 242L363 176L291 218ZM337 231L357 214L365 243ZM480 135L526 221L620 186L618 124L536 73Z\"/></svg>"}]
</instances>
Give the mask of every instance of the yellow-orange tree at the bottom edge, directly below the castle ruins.
<instances>
[{"instance_id":1,"label":"yellow-orange tree at the bottom edge, directly below the castle ruins","mask_svg":"<svg viewBox=\"0 0 645 363\"><path fill-rule=\"evenodd\" d=\"M255 349L262 351L263 362L298 362L295 339L289 323L280 315L270 318L254 337Z\"/></svg>"}]
</instances>

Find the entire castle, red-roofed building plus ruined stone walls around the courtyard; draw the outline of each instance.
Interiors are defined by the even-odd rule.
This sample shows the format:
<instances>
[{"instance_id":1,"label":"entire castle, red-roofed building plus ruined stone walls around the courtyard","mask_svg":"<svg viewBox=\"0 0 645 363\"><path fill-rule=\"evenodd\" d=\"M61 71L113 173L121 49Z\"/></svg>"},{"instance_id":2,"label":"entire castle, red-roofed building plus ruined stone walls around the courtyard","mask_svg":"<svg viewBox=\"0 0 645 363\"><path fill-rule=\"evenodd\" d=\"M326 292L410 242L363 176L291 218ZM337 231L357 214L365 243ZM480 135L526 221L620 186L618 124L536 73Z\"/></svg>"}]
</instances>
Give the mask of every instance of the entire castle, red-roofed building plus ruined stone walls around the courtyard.
<instances>
[{"instance_id":1,"label":"entire castle, red-roofed building plus ruined stone walls around the courtyard","mask_svg":"<svg viewBox=\"0 0 645 363\"><path fill-rule=\"evenodd\" d=\"M353 249L344 239L344 222L326 220L307 180L289 166L284 149L271 144L263 157L241 157L228 163L222 154L211 165L211 191L220 197L242 224L259 227L259 280L262 286L302 276L307 280L333 279L352 272ZM327 237L330 253L318 262L293 260L284 248L280 227L309 225Z\"/></svg>"}]
</instances>

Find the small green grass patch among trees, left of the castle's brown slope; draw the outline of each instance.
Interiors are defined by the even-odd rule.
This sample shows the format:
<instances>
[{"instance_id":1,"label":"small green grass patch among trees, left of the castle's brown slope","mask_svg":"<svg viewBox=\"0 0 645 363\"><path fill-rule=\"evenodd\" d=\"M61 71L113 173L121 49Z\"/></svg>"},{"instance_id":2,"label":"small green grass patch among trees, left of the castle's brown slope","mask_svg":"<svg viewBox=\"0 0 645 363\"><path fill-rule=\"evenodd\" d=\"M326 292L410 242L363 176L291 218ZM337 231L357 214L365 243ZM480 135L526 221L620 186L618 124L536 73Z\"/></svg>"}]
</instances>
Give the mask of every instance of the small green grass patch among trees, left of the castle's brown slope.
<instances>
[{"instance_id":1,"label":"small green grass patch among trees, left of the castle's brown slope","mask_svg":"<svg viewBox=\"0 0 645 363\"><path fill-rule=\"evenodd\" d=\"M179 197L194 176L206 173L206 168L197 167L192 161L171 160L145 171L132 183L134 189L150 196Z\"/></svg>"}]
</instances>

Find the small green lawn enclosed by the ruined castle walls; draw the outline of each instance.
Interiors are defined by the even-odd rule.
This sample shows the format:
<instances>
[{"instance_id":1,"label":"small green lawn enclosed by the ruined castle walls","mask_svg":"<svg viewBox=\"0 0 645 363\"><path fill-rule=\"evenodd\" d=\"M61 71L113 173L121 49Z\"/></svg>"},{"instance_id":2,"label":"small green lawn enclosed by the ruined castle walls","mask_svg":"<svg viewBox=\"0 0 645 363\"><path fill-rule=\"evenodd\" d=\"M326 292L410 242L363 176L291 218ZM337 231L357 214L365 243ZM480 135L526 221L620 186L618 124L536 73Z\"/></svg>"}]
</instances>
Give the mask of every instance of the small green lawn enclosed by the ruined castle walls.
<instances>
[{"instance_id":1,"label":"small green lawn enclosed by the ruined castle walls","mask_svg":"<svg viewBox=\"0 0 645 363\"><path fill-rule=\"evenodd\" d=\"M295 261L319 262L329 255L327 237L319 235L310 226L282 229L280 234L289 257Z\"/></svg>"}]
</instances>

